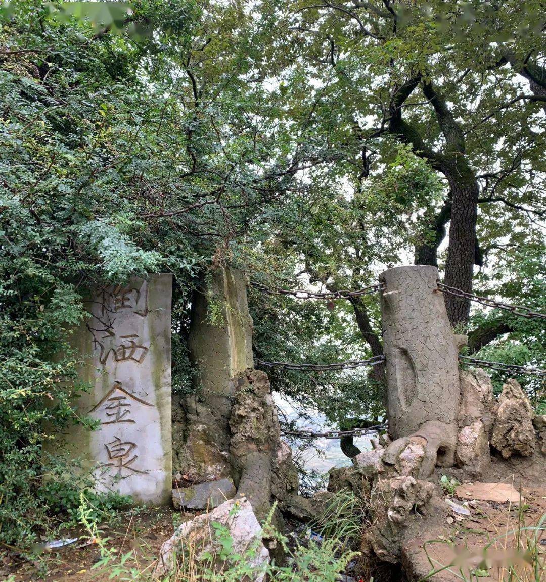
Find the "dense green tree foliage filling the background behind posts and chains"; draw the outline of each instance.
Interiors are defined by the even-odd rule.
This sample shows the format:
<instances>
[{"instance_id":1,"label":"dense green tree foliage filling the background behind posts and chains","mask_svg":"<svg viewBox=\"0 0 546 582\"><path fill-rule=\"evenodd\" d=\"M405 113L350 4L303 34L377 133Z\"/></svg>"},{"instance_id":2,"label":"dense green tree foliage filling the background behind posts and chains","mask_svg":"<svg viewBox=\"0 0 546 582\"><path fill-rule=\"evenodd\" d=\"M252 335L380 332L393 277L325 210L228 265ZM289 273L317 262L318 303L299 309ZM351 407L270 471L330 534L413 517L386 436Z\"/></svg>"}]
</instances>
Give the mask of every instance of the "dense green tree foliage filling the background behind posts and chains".
<instances>
[{"instance_id":1,"label":"dense green tree foliage filling the background behind posts and chains","mask_svg":"<svg viewBox=\"0 0 546 582\"><path fill-rule=\"evenodd\" d=\"M178 393L211 265L354 289L415 257L546 310L540 2L419 5L133 0L110 19L0 7L0 542L28 545L86 485L42 441L87 422L70 407L87 387L69 330L92 283L173 273ZM382 352L377 297L250 303L263 359ZM466 309L451 313L470 353L544 365L540 321ZM379 368L271 379L333 423L384 414ZM521 379L545 406L544 386Z\"/></svg>"}]
</instances>

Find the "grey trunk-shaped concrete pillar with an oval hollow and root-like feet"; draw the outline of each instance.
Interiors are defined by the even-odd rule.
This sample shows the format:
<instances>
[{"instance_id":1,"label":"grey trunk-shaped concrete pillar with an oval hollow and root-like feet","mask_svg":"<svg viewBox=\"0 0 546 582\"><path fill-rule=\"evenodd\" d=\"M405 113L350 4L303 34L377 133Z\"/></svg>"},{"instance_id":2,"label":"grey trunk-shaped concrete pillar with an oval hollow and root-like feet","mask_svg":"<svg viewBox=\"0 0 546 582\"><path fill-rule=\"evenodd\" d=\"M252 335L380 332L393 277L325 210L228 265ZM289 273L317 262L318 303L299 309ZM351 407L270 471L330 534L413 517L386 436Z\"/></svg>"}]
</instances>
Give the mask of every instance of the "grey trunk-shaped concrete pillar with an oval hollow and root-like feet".
<instances>
[{"instance_id":1,"label":"grey trunk-shaped concrete pillar with an oval hollow and root-like feet","mask_svg":"<svg viewBox=\"0 0 546 582\"><path fill-rule=\"evenodd\" d=\"M458 351L466 336L455 335L438 269L396 267L380 277L382 333L387 359L389 436L393 459L407 438L426 441L428 470L453 463L459 410Z\"/></svg>"}]
</instances>

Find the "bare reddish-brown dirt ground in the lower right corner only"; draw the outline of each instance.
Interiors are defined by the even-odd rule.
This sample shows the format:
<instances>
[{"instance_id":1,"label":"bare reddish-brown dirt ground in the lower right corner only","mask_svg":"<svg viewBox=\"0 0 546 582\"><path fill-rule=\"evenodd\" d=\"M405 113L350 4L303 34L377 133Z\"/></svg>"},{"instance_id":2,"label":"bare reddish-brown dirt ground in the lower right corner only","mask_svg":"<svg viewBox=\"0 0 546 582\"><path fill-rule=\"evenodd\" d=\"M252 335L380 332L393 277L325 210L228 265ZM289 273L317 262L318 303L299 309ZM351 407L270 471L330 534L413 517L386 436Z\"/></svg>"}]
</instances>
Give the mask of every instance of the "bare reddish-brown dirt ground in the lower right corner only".
<instances>
[{"instance_id":1,"label":"bare reddish-brown dirt ground in the lower right corner only","mask_svg":"<svg viewBox=\"0 0 546 582\"><path fill-rule=\"evenodd\" d=\"M507 567L512 564L520 580L546 582L546 488L522 487L521 508L519 502L469 501L463 489L464 485L459 489L459 496L449 498L468 509L470 515L458 515L438 504L436 519L427 520L423 534L403 550L409 576L419 579L427 576L432 568L449 566L432 580L455 582L463 576L465 580L483 578L495 582L507 579ZM434 522L435 527L431 527ZM540 571L538 578L530 565L531 546L538 549L539 560L535 562Z\"/></svg>"}]
</instances>

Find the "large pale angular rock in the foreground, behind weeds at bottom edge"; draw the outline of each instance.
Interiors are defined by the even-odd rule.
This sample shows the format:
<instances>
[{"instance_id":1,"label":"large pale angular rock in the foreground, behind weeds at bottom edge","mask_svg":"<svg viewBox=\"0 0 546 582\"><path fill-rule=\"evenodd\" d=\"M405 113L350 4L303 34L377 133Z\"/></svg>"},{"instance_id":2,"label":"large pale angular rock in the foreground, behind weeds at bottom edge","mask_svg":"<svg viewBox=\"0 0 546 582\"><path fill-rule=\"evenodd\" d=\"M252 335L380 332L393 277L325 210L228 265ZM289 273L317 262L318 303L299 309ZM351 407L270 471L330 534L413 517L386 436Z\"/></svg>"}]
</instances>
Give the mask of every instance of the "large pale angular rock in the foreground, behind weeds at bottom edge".
<instances>
[{"instance_id":1,"label":"large pale angular rock in the foreground, behind weeds at bottom edge","mask_svg":"<svg viewBox=\"0 0 546 582\"><path fill-rule=\"evenodd\" d=\"M155 579L169 576L173 571L175 553L187 553L187 558L193 552L194 560L198 560L205 552L217 556L222 546L216 537L215 528L211 527L213 523L228 528L232 540L231 552L239 553L244 562L255 570L249 582L263 582L270 556L261 538L260 524L254 516L252 506L244 497L226 501L211 512L183 523L161 546L154 572ZM212 559L215 572L221 573L225 566L224 560L219 557Z\"/></svg>"}]
</instances>

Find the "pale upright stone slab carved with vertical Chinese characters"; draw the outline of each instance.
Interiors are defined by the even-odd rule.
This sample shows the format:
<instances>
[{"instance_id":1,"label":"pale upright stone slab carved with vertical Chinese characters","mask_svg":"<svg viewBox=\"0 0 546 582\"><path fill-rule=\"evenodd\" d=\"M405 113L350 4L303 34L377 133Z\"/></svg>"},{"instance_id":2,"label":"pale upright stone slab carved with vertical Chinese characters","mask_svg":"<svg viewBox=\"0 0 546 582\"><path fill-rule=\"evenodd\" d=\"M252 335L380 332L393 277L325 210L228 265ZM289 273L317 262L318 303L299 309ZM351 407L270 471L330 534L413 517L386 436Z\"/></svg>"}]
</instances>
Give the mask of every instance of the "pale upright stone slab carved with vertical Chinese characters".
<instances>
[{"instance_id":1,"label":"pale upright stone slab carved with vertical Chinese characters","mask_svg":"<svg viewBox=\"0 0 546 582\"><path fill-rule=\"evenodd\" d=\"M95 290L93 317L74 334L80 379L92 386L77 412L101 426L73 427L66 446L93 470L99 491L137 503L171 501L171 292L167 274Z\"/></svg>"}]
</instances>

